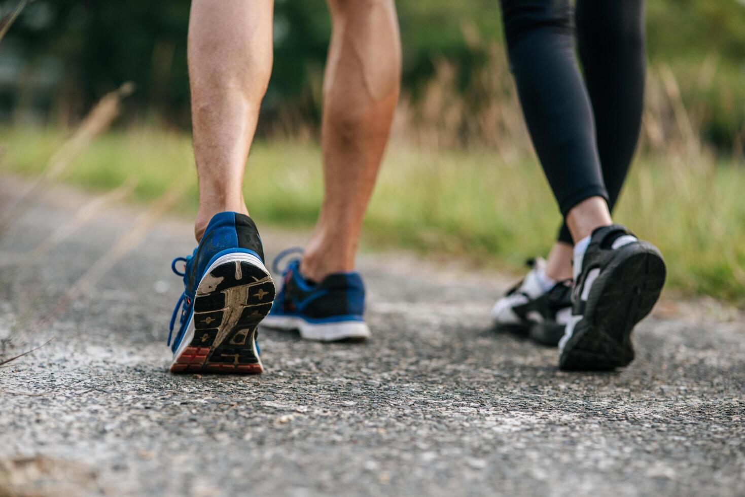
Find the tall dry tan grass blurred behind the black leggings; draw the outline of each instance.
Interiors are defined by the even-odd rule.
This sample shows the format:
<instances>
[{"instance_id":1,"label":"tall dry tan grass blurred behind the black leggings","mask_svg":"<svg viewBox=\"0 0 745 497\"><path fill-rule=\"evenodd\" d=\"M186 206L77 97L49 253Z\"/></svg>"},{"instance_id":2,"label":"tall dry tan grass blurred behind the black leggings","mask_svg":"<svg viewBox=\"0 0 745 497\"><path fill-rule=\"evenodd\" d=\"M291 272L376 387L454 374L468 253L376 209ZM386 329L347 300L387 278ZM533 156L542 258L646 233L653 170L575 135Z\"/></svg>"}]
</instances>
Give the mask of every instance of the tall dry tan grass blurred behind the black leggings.
<instances>
[{"instance_id":1,"label":"tall dry tan grass blurred behind the black leggings","mask_svg":"<svg viewBox=\"0 0 745 497\"><path fill-rule=\"evenodd\" d=\"M472 73L469 86L457 88L457 67L446 59L435 61L434 78L417 95L402 95L393 127L393 141L428 151L483 149L498 153L506 164L534 156L504 47L483 42L478 31L463 26L471 48L486 54ZM687 81L700 94L711 90L719 59L716 54L700 64L698 75ZM705 101L691 108L683 103L679 80L666 64L650 67L639 153L676 164L712 167L715 153L703 145L703 122L711 109ZM732 157L741 160L745 127L735 136Z\"/></svg>"}]
</instances>

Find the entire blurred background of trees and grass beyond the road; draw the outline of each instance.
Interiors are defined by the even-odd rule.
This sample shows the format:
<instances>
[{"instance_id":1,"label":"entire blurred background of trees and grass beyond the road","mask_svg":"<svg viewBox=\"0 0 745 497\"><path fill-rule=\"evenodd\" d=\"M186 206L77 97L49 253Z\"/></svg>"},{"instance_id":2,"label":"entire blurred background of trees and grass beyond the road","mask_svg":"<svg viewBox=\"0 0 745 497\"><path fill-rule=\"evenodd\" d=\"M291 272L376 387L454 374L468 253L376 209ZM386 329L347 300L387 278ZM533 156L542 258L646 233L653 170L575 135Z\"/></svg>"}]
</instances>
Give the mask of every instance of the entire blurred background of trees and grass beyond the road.
<instances>
[{"instance_id":1,"label":"entire blurred background of trees and grass beyond the road","mask_svg":"<svg viewBox=\"0 0 745 497\"><path fill-rule=\"evenodd\" d=\"M0 0L0 13L16 1ZM522 271L551 246L559 212L524 127L498 0L397 7L403 91L364 244ZM0 171L55 171L93 191L136 180L133 196L147 202L186 177L179 209L194 213L188 13L186 0L28 4L0 43ZM325 1L276 0L273 77L249 159L262 224L306 229L317 216L330 31ZM745 0L647 0L647 53L640 153L614 217L659 245L668 288L745 306ZM104 134L117 98L90 110L124 81L136 92Z\"/></svg>"}]
</instances>

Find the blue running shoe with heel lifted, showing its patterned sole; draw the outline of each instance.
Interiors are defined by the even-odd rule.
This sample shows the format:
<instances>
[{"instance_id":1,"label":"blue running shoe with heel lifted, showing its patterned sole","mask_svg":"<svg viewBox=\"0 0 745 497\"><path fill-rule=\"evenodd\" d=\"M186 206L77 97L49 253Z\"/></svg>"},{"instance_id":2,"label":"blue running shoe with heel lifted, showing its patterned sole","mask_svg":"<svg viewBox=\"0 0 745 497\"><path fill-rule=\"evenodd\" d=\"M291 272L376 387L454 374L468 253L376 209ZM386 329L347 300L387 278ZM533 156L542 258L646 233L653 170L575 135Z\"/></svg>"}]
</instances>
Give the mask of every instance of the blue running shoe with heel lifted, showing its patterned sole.
<instances>
[{"instance_id":1,"label":"blue running shoe with heel lifted, showing its patterned sole","mask_svg":"<svg viewBox=\"0 0 745 497\"><path fill-rule=\"evenodd\" d=\"M183 273L178 262L186 263ZM171 268L186 287L168 334L171 373L261 373L256 327L270 311L274 282L251 218L215 214L194 253L177 257Z\"/></svg>"}]
</instances>

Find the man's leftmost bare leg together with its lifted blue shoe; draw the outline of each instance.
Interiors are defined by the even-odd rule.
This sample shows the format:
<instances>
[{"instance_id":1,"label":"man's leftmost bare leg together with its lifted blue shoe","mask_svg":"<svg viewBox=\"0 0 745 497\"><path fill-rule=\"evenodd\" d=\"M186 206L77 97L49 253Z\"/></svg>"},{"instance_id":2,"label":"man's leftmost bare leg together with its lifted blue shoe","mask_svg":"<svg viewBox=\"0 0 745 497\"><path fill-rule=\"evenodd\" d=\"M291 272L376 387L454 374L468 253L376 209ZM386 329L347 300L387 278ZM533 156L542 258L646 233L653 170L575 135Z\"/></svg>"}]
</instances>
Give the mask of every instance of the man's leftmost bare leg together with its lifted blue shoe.
<instances>
[{"instance_id":1,"label":"man's leftmost bare leg together with its lifted blue shoe","mask_svg":"<svg viewBox=\"0 0 745 497\"><path fill-rule=\"evenodd\" d=\"M272 7L271 0L191 2L188 68L199 177L194 235L200 244L171 266L184 277L169 325L173 373L264 370L256 329L275 286L242 186L272 65Z\"/></svg>"}]
</instances>

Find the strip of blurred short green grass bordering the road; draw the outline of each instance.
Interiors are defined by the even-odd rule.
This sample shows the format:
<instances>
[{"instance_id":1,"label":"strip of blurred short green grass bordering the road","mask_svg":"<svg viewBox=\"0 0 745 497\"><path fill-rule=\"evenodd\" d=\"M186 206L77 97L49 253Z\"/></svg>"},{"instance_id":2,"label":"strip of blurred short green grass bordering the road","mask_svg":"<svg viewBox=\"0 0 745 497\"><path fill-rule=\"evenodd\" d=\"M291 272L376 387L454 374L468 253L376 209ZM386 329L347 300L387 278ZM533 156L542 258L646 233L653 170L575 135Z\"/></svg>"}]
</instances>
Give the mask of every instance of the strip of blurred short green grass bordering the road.
<instances>
[{"instance_id":1,"label":"strip of blurred short green grass bordering the road","mask_svg":"<svg viewBox=\"0 0 745 497\"><path fill-rule=\"evenodd\" d=\"M39 174L63 142L54 130L0 130L3 169ZM105 191L139 178L137 200L194 178L180 206L197 206L191 139L133 129L97 139L63 180ZM245 192L261 224L311 227L323 191L320 149L257 142ZM745 168L728 162L638 159L615 220L657 244L668 262L668 288L745 304ZM554 198L534 159L505 164L493 152L429 152L393 145L366 218L366 244L407 247L518 268L545 254L559 226Z\"/></svg>"}]
</instances>

